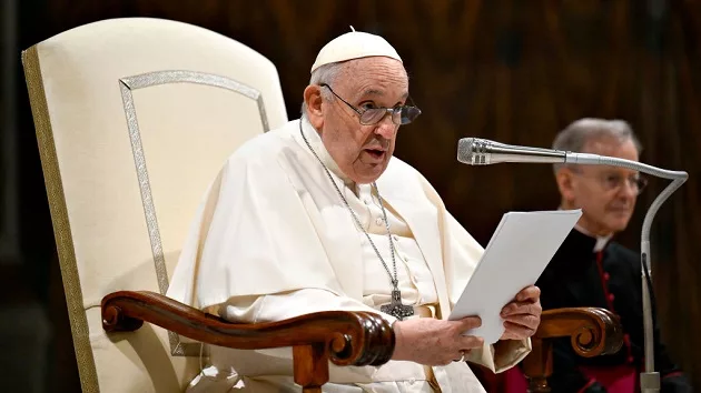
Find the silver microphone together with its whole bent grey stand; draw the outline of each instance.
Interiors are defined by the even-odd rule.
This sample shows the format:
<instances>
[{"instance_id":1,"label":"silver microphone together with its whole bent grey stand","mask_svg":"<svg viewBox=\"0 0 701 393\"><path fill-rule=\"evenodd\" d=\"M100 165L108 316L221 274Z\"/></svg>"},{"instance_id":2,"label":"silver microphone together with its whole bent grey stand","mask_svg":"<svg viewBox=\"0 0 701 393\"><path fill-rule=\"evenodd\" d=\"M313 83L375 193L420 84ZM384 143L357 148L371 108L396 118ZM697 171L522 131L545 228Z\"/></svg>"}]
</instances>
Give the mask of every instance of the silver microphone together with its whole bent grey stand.
<instances>
[{"instance_id":1,"label":"silver microphone together with its whole bent grey stand","mask_svg":"<svg viewBox=\"0 0 701 393\"><path fill-rule=\"evenodd\" d=\"M689 179L683 171L669 171L638 161L630 161L606 155L573 153L570 151L530 148L498 143L486 139L463 138L457 143L457 161L470 165L488 165L500 162L523 163L570 163L583 165L611 165L628 168L658 178L671 179L672 182L655 198L643 220L640 258L642 270L643 324L645 342L645 372L640 375L642 392L660 391L660 374L654 371L654 346L652 305L650 286L652 285L652 262L650 259L650 230L652 220L667 199Z\"/></svg>"}]
</instances>

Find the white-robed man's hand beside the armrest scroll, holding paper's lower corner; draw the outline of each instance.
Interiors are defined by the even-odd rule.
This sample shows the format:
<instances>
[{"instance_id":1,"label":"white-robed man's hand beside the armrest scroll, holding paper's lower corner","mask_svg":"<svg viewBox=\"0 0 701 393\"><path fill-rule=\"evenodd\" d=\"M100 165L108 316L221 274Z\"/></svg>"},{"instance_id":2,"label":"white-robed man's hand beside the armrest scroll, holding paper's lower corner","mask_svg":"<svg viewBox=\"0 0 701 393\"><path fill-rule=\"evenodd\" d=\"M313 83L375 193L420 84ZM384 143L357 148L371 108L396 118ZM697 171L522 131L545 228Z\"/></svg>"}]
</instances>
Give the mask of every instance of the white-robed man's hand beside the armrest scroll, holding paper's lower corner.
<instances>
[{"instance_id":1,"label":"white-robed man's hand beside the armrest scroll, holding paper's lower corner","mask_svg":"<svg viewBox=\"0 0 701 393\"><path fill-rule=\"evenodd\" d=\"M395 349L393 360L412 361L426 365L446 365L481 349L482 337L461 335L482 325L478 316L460 321L443 321L419 318L394 323Z\"/></svg>"}]
</instances>

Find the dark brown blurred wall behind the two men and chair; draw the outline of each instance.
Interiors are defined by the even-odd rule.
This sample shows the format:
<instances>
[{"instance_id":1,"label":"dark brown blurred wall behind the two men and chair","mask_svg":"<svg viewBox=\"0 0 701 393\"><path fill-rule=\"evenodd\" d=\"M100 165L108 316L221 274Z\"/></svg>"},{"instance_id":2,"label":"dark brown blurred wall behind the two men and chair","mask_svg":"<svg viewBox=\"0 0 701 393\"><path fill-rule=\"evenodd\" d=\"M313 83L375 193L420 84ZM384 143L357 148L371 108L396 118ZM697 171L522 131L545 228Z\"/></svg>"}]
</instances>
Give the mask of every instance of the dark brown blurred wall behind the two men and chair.
<instances>
[{"instance_id":1,"label":"dark brown blurred wall behind the two men and chair","mask_svg":"<svg viewBox=\"0 0 701 393\"><path fill-rule=\"evenodd\" d=\"M80 390L20 51L122 17L197 24L260 52L278 68L290 119L324 43L349 26L384 36L424 112L402 129L396 155L485 245L503 213L556 209L559 195L549 165L460 164L460 138L547 148L582 117L629 121L643 162L690 174L654 221L653 280L664 341L701 389L700 1L0 1L2 391ZM652 180L621 243L640 249L642 218L665 184Z\"/></svg>"}]
</instances>

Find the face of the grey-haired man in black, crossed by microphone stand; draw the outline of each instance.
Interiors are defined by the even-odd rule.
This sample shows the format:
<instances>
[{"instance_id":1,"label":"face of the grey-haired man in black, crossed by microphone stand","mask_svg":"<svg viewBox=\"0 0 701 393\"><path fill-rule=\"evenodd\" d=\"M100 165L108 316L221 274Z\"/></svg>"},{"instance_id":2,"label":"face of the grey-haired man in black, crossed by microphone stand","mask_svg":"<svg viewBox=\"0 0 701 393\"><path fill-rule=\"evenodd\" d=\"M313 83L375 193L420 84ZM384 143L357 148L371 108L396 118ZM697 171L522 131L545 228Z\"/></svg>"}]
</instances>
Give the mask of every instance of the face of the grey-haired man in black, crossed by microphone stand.
<instances>
[{"instance_id":1,"label":"face of the grey-haired man in black, crossed by microphone stand","mask_svg":"<svg viewBox=\"0 0 701 393\"><path fill-rule=\"evenodd\" d=\"M638 161L632 140L593 140L585 144L583 152ZM556 174L563 208L581 208L579 224L598 235L625 229L635 208L638 177L639 173L630 169L603 165L565 167Z\"/></svg>"}]
</instances>

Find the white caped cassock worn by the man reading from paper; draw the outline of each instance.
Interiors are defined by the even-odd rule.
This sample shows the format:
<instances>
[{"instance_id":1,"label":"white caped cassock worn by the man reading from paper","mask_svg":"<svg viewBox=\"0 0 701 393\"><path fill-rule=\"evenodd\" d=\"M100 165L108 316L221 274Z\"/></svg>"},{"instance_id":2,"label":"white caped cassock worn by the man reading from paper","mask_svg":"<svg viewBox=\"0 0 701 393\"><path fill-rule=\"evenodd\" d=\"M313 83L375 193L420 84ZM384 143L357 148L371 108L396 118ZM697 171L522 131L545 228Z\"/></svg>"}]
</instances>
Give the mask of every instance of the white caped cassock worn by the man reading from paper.
<instances>
[{"instance_id":1,"label":"white caped cassock worn by the man reading from paper","mask_svg":"<svg viewBox=\"0 0 701 393\"><path fill-rule=\"evenodd\" d=\"M379 313L389 302L389 275L305 144L299 122L255 138L229 158L200 205L168 296L250 323L327 310ZM377 195L369 184L348 180L312 125L302 124L392 271ZM391 159L376 184L396 250L403 303L422 316L446 319L482 246L446 211L426 179L399 159ZM530 351L530 340L504 341L473 350L467 359L501 372ZM210 362L192 381L191 392L226 392L237 382L244 392L299 391L292 376L292 349L210 347ZM378 367L332 364L323 390L434 392L436 385L446 393L484 392L465 363L431 367L402 361Z\"/></svg>"}]
</instances>

